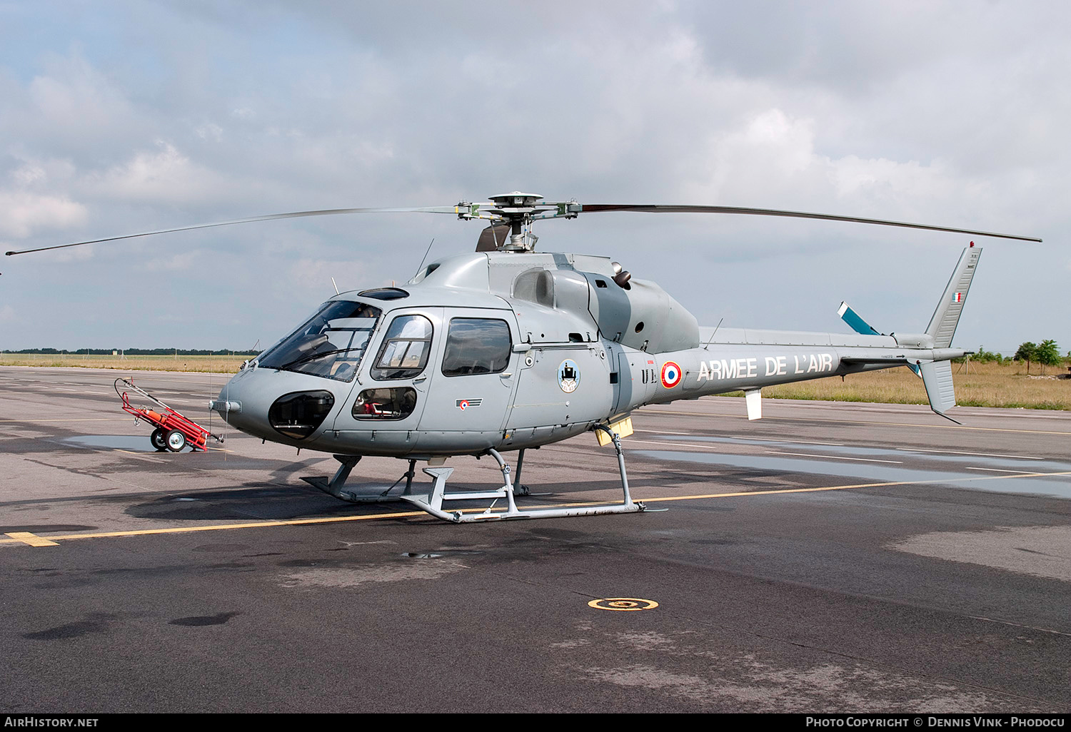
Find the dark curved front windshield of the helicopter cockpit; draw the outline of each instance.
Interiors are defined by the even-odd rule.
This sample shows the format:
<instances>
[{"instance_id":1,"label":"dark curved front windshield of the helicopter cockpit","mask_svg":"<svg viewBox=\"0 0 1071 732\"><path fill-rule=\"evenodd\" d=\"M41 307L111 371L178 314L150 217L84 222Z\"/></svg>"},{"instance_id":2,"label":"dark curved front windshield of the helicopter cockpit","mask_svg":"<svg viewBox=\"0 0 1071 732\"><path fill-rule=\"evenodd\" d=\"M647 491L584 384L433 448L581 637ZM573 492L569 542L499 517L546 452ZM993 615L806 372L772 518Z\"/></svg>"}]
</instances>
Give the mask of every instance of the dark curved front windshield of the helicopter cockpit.
<instances>
[{"instance_id":1,"label":"dark curved front windshield of the helicopter cockpit","mask_svg":"<svg viewBox=\"0 0 1071 732\"><path fill-rule=\"evenodd\" d=\"M319 312L257 359L257 365L352 381L381 312L364 303L323 303Z\"/></svg>"}]
</instances>

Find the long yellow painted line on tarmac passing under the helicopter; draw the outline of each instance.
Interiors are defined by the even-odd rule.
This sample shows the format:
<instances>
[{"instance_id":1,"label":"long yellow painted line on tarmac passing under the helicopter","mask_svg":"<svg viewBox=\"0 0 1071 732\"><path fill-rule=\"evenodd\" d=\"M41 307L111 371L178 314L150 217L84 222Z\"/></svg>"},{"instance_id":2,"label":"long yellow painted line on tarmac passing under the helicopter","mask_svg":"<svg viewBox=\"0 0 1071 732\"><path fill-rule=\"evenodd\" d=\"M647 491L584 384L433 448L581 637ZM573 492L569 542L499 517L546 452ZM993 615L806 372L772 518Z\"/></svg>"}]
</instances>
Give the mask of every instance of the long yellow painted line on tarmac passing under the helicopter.
<instances>
[{"instance_id":1,"label":"long yellow painted line on tarmac passing under the helicopter","mask_svg":"<svg viewBox=\"0 0 1071 732\"><path fill-rule=\"evenodd\" d=\"M729 493L702 493L696 495L662 495L654 498L640 498L635 499L637 502L643 503L660 503L664 501L702 501L706 499L716 499L716 498L738 498L743 495L775 495L778 493L814 493L827 490L849 490L854 488L884 488L889 486L917 486L917 485L932 485L935 483L970 483L975 481L1005 481L1008 478L1025 478L1025 477L1042 477L1042 476L1059 476L1059 475L1071 475L1071 471L1064 471L1059 473L1017 473L1015 475L981 475L977 477L962 477L962 478L950 478L941 481L892 481L888 483L858 483L845 486L821 486L818 488L780 488L774 490L746 490L737 491ZM579 506L598 506L605 504L605 501L586 501L582 503L555 503L548 505L540 505L539 508L572 508ZM496 510L494 513L501 513L503 509ZM465 508L463 513L483 513L482 508ZM30 544L31 546L54 546L56 542L67 542L73 539L85 539L85 538L115 538L120 536L148 536L152 534L187 534L196 531L224 531L227 529L266 529L270 527L299 527L299 525L310 525L315 523L342 523L344 521L371 521L375 519L383 518L412 518L428 516L428 514L422 510L408 510L398 512L394 514L367 514L363 516L332 516L329 518L311 518L311 519L291 519L288 521L251 521L248 523L226 523L226 524L213 524L208 527L175 527L170 529L141 529L136 531L109 531L99 534L66 534L63 536L49 536L44 538L41 536L34 536L33 534L26 532L17 532L14 534L7 534L12 538L0 539L0 544ZM44 544L31 544L32 540L43 542Z\"/></svg>"}]
</instances>

